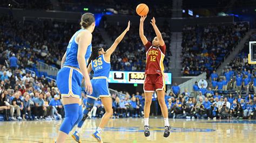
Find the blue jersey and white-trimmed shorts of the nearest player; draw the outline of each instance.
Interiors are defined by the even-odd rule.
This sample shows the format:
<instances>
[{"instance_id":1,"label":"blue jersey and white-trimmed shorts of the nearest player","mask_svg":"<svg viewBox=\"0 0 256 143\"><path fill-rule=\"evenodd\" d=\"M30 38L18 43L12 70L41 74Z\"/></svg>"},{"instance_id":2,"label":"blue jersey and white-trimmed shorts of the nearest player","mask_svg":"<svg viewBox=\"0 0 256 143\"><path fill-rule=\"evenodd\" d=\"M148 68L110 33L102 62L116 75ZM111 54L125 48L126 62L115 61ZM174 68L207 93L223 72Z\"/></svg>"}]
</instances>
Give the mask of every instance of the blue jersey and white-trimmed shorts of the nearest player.
<instances>
[{"instance_id":1,"label":"blue jersey and white-trimmed shorts of the nearest player","mask_svg":"<svg viewBox=\"0 0 256 143\"><path fill-rule=\"evenodd\" d=\"M82 84L83 75L80 72L77 61L78 42L76 41L76 37L81 31L85 31L85 29L77 31L70 39L69 45L66 49L66 61L57 75L57 87L62 94L62 97L72 96L75 98L81 98L80 87ZM87 47L87 51L85 54L86 65L88 64L91 52L92 46L90 44Z\"/></svg>"}]
</instances>

